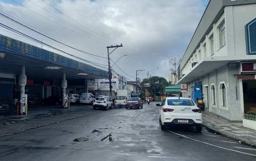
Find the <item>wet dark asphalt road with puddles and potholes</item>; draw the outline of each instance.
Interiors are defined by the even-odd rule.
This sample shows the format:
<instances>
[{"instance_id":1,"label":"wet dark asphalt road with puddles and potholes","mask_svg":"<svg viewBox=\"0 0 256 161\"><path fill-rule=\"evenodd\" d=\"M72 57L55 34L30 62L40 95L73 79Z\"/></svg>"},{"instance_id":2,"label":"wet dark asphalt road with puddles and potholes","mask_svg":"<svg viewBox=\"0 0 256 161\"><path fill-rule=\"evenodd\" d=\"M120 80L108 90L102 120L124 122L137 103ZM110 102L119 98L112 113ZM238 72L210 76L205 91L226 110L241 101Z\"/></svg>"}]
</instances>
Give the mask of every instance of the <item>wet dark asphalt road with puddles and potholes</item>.
<instances>
[{"instance_id":1,"label":"wet dark asphalt road with puddles and potholes","mask_svg":"<svg viewBox=\"0 0 256 161\"><path fill-rule=\"evenodd\" d=\"M3 125L0 160L256 160L256 148L204 128L201 133L194 128L161 131L155 103L127 110L90 107ZM8 130L18 133L4 135ZM73 141L80 137L88 141Z\"/></svg>"}]
</instances>

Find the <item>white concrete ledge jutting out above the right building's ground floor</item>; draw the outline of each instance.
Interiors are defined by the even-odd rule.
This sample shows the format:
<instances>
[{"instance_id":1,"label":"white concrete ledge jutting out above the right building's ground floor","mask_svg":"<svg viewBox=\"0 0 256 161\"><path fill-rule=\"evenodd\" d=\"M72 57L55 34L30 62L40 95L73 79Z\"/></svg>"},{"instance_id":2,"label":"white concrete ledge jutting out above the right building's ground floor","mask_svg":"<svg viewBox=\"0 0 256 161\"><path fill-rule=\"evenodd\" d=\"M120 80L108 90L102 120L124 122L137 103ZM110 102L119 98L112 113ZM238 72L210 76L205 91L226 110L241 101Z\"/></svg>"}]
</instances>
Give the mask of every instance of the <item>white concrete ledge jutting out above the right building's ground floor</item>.
<instances>
[{"instance_id":1,"label":"white concrete ledge jutting out above the right building's ground floor","mask_svg":"<svg viewBox=\"0 0 256 161\"><path fill-rule=\"evenodd\" d=\"M221 56L221 57L204 57L199 61L192 70L185 74L176 84L188 83L214 71L227 63L240 61L256 60L256 55L238 55L238 56Z\"/></svg>"}]
</instances>

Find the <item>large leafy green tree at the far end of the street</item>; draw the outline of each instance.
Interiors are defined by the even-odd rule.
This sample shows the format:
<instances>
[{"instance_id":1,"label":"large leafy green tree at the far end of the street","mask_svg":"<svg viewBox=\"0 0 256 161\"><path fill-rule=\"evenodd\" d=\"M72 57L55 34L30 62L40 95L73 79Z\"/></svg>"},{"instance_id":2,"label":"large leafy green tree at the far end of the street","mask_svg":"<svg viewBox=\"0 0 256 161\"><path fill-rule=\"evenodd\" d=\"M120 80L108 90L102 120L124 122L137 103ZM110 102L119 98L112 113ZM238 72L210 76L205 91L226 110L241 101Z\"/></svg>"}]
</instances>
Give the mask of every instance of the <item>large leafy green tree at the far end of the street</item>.
<instances>
[{"instance_id":1,"label":"large leafy green tree at the far end of the street","mask_svg":"<svg viewBox=\"0 0 256 161\"><path fill-rule=\"evenodd\" d=\"M149 90L152 96L159 92L163 93L165 91L165 87L169 85L165 78L157 76L144 79L141 84L143 84L144 87Z\"/></svg>"}]
</instances>

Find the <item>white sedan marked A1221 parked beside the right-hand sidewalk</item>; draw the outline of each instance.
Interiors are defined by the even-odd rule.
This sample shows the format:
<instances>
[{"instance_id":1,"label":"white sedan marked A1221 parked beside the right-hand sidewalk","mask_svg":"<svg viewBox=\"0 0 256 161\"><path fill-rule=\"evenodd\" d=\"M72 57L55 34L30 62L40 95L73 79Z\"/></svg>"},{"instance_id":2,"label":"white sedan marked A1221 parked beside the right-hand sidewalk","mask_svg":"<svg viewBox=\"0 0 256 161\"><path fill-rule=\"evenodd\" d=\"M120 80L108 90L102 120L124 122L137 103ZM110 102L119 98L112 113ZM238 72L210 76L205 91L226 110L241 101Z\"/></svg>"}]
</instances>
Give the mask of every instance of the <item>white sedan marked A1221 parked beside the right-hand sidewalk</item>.
<instances>
[{"instance_id":1,"label":"white sedan marked A1221 parked beside the right-hand sidewalk","mask_svg":"<svg viewBox=\"0 0 256 161\"><path fill-rule=\"evenodd\" d=\"M191 98L167 97L159 108L161 130L168 125L195 126L196 131L202 131L202 111Z\"/></svg>"}]
</instances>

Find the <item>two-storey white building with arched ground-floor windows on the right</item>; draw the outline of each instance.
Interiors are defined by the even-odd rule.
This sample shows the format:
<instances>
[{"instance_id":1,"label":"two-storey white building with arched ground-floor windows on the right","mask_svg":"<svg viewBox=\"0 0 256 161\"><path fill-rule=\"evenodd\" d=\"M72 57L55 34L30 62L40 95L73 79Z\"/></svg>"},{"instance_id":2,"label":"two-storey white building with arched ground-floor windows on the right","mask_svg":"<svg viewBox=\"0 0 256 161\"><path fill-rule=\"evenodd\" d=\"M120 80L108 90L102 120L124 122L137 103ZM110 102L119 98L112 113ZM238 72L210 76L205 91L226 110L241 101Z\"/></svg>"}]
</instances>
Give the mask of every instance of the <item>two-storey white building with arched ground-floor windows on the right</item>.
<instances>
[{"instance_id":1,"label":"two-storey white building with arched ground-floor windows on the right","mask_svg":"<svg viewBox=\"0 0 256 161\"><path fill-rule=\"evenodd\" d=\"M201 84L205 107L228 120L256 111L255 17L256 0L210 0L178 68L184 96Z\"/></svg>"}]
</instances>

